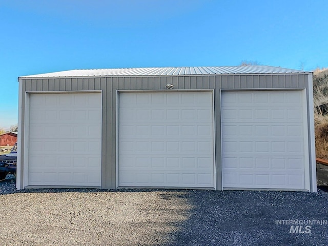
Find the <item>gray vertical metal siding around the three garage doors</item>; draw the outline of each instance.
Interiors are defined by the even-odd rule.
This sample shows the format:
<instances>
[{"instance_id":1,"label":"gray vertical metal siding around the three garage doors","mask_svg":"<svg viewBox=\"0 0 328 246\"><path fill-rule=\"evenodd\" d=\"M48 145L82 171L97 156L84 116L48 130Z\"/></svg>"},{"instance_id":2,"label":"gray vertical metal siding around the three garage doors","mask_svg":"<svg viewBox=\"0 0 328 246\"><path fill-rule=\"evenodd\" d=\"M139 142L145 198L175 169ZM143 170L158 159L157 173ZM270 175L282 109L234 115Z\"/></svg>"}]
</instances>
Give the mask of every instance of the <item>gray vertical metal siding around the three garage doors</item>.
<instances>
[{"instance_id":1,"label":"gray vertical metal siding around the three garage doors","mask_svg":"<svg viewBox=\"0 0 328 246\"><path fill-rule=\"evenodd\" d=\"M214 89L216 185L221 187L221 126L220 89L277 89L308 88L307 74L236 74L236 75L188 75L145 77L84 77L84 78L35 78L24 79L22 95L22 142L24 142L25 92L42 91L103 91L103 140L102 187L116 188L116 93L117 90L163 90L166 84L174 89ZM308 90L307 90L308 91ZM307 92L308 94L309 92ZM308 94L309 99L309 94ZM308 106L309 107L309 106ZM308 109L309 111L310 109ZM310 112L310 111L309 111ZM24 149L22 148L22 156ZM22 179L24 163L22 163ZM22 180L23 185L23 180ZM21 187L23 188L23 187Z\"/></svg>"}]
</instances>

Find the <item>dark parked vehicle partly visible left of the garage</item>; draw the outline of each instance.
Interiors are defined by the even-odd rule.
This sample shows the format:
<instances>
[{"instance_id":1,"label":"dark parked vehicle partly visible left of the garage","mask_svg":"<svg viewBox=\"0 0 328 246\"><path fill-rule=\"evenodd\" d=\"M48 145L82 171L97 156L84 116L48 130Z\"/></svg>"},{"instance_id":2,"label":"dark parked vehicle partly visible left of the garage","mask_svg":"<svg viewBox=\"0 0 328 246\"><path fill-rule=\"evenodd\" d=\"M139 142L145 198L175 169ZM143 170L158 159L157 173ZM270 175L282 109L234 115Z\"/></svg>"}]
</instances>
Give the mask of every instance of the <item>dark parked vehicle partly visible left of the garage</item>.
<instances>
[{"instance_id":1,"label":"dark parked vehicle partly visible left of the garage","mask_svg":"<svg viewBox=\"0 0 328 246\"><path fill-rule=\"evenodd\" d=\"M7 174L16 175L17 167L17 143L12 147L9 154L0 155L0 180L6 178Z\"/></svg>"}]
</instances>

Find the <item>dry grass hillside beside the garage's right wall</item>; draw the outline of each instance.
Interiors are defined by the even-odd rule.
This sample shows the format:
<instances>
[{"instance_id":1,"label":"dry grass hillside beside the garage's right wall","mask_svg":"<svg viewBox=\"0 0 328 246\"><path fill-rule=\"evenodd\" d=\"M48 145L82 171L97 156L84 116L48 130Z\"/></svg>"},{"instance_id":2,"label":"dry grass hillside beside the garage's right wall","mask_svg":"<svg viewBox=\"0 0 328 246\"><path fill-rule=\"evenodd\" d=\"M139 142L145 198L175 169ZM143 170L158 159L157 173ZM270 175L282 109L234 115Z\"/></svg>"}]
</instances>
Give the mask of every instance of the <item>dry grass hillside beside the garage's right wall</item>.
<instances>
[{"instance_id":1,"label":"dry grass hillside beside the garage's right wall","mask_svg":"<svg viewBox=\"0 0 328 246\"><path fill-rule=\"evenodd\" d=\"M314 106L328 104L328 68L317 69L313 74ZM328 159L328 115L314 111L316 156Z\"/></svg>"}]
</instances>

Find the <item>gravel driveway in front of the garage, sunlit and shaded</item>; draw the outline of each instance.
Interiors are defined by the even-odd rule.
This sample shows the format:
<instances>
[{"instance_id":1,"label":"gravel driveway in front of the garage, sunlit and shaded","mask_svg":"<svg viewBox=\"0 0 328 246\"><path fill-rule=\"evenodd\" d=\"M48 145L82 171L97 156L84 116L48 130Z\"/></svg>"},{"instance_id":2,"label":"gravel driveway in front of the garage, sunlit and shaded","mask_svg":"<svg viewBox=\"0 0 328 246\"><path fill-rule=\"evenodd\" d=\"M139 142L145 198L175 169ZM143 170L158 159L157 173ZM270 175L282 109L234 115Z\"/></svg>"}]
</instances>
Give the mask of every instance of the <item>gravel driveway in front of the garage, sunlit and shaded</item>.
<instances>
[{"instance_id":1,"label":"gravel driveway in front of the garage, sunlit and shaded","mask_svg":"<svg viewBox=\"0 0 328 246\"><path fill-rule=\"evenodd\" d=\"M1 245L328 245L328 192L39 189L0 183ZM7 193L7 194L6 194ZM302 231L304 231L304 226Z\"/></svg>"}]
</instances>

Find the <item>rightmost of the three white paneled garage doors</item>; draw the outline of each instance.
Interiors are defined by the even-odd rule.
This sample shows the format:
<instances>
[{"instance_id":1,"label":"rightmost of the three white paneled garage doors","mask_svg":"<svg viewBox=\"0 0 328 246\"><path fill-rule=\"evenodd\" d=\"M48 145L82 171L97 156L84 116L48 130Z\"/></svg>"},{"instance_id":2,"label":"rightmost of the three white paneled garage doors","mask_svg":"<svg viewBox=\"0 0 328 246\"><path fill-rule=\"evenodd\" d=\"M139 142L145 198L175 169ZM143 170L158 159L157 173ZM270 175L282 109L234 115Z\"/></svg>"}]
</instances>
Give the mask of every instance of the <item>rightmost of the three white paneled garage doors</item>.
<instances>
[{"instance_id":1,"label":"rightmost of the three white paneled garage doors","mask_svg":"<svg viewBox=\"0 0 328 246\"><path fill-rule=\"evenodd\" d=\"M222 92L223 188L309 189L304 97Z\"/></svg>"}]
</instances>

